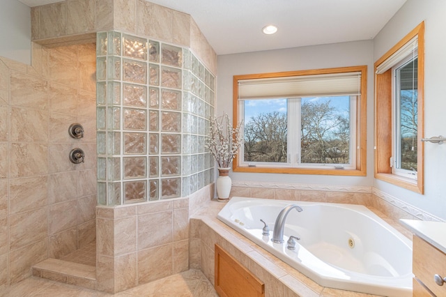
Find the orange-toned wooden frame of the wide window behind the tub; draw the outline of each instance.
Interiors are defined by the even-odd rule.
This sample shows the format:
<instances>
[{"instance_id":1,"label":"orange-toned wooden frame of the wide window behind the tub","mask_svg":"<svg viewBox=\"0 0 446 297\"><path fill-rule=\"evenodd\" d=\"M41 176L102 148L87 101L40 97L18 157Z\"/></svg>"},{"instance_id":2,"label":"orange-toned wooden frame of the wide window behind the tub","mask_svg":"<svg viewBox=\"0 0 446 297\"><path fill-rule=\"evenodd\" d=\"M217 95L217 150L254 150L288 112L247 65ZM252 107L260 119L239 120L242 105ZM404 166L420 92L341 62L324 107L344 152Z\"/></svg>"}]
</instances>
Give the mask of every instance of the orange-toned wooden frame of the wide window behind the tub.
<instances>
[{"instance_id":1,"label":"orange-toned wooden frame of the wide window behind the tub","mask_svg":"<svg viewBox=\"0 0 446 297\"><path fill-rule=\"evenodd\" d=\"M272 174L321 174L332 176L367 175L367 66L324 68L316 70L298 70L281 73L259 73L233 76L233 126L238 124L238 81L241 79L259 79L271 77L291 77L299 75L323 75L330 73L361 73L361 96L357 100L356 116L356 168L355 169L318 169L290 167L249 167L238 165L238 158L233 160L233 172L272 173Z\"/></svg>"}]
</instances>

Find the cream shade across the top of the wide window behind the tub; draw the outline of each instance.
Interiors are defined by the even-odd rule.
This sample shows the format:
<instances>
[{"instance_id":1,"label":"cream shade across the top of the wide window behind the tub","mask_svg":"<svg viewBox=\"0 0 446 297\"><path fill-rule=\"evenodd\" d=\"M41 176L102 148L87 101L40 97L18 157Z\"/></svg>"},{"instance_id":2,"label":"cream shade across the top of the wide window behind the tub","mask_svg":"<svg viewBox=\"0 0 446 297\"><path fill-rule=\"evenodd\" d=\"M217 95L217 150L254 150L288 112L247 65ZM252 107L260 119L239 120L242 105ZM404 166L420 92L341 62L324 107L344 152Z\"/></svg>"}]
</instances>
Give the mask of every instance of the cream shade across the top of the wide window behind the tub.
<instances>
[{"instance_id":1,"label":"cream shade across the top of the wide window behind the tub","mask_svg":"<svg viewBox=\"0 0 446 297\"><path fill-rule=\"evenodd\" d=\"M238 99L352 96L361 93L361 73L240 79Z\"/></svg>"}]
</instances>

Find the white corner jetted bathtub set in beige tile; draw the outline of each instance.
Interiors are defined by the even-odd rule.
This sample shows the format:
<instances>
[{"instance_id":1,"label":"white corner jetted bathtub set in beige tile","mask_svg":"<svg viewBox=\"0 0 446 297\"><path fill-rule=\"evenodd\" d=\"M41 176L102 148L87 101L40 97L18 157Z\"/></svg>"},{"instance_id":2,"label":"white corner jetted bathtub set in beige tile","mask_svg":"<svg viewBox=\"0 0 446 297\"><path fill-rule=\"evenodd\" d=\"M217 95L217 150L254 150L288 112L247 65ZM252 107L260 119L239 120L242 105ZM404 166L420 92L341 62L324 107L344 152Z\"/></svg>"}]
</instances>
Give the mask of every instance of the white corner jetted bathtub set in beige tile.
<instances>
[{"instance_id":1,"label":"white corner jetted bathtub set in beige tile","mask_svg":"<svg viewBox=\"0 0 446 297\"><path fill-rule=\"evenodd\" d=\"M289 212L284 243L272 243L277 215L290 204L302 212ZM323 287L412 296L412 242L365 206L233 197L217 217ZM286 248L289 236L300 238L295 250Z\"/></svg>"}]
</instances>

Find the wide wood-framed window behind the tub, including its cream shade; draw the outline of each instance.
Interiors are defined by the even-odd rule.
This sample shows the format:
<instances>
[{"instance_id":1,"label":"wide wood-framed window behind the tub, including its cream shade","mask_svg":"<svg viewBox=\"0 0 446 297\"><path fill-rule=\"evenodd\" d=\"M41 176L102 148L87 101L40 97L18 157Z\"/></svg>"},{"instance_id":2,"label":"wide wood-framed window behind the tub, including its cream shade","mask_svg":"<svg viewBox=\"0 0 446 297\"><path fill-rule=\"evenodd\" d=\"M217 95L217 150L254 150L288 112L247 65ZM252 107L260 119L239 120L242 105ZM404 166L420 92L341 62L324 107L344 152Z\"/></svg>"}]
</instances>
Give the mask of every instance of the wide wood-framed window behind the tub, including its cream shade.
<instances>
[{"instance_id":1,"label":"wide wood-framed window behind the tub, including its cream shade","mask_svg":"<svg viewBox=\"0 0 446 297\"><path fill-rule=\"evenodd\" d=\"M367 66L235 76L245 144L233 171L365 175L366 77Z\"/></svg>"}]
</instances>

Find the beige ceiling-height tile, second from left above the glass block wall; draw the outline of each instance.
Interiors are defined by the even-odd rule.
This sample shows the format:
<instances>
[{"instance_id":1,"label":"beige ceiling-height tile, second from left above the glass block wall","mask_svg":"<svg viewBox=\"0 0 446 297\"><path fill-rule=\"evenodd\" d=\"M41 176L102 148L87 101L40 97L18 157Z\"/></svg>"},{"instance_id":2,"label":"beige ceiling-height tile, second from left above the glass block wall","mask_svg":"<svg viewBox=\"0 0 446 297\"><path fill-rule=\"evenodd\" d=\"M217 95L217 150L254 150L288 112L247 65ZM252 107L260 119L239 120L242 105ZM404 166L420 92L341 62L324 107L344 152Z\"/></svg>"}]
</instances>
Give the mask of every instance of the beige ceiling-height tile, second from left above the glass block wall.
<instances>
[{"instance_id":1,"label":"beige ceiling-height tile, second from left above the glass block wall","mask_svg":"<svg viewBox=\"0 0 446 297\"><path fill-rule=\"evenodd\" d=\"M137 32L136 0L114 0L114 29Z\"/></svg>"}]
</instances>

